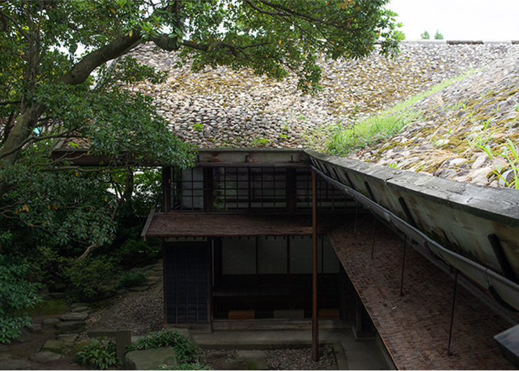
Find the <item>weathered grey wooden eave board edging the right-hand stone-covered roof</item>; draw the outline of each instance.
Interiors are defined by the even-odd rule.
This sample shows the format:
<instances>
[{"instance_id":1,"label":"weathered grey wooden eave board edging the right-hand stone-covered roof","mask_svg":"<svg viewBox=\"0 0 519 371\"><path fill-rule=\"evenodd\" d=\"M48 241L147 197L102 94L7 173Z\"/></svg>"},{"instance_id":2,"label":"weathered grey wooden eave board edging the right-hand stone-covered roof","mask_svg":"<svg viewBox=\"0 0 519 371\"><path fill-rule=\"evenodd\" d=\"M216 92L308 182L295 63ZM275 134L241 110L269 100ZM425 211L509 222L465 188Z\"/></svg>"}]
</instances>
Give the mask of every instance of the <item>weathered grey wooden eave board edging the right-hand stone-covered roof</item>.
<instances>
[{"instance_id":1,"label":"weathered grey wooden eave board edging the right-hand stone-covered roof","mask_svg":"<svg viewBox=\"0 0 519 371\"><path fill-rule=\"evenodd\" d=\"M311 161L329 177L349 185L408 219L399 199L419 229L451 250L493 271L502 266L489 242L495 234L504 256L519 277L519 191L496 189L430 177L361 161L307 151Z\"/></svg>"}]
</instances>

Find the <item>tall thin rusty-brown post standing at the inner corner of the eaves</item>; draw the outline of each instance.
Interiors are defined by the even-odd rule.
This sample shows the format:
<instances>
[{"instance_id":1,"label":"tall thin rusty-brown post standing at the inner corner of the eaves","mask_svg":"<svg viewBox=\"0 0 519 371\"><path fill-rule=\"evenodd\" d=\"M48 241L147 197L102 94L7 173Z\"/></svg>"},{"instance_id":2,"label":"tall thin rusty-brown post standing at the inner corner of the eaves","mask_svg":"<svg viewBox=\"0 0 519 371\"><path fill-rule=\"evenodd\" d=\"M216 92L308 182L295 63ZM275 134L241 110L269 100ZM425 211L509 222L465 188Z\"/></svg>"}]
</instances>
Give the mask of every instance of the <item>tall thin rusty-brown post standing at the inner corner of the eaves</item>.
<instances>
[{"instance_id":1,"label":"tall thin rusty-brown post standing at the inner corner of the eaves","mask_svg":"<svg viewBox=\"0 0 519 371\"><path fill-rule=\"evenodd\" d=\"M317 323L317 181L312 170L312 350L313 361L319 361L319 334Z\"/></svg>"}]
</instances>

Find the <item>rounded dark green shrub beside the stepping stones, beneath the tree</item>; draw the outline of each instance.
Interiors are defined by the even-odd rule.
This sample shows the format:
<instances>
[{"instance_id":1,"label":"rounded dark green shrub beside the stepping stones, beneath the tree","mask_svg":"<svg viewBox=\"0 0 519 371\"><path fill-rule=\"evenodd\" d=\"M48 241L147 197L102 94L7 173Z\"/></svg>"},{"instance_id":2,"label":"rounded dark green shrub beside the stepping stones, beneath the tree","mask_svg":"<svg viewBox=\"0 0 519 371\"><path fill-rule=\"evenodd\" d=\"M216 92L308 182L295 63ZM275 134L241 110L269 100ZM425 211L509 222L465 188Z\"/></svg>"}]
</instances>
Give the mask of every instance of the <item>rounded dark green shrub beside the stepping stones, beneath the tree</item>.
<instances>
[{"instance_id":1,"label":"rounded dark green shrub beside the stepping stones, beneath the tree","mask_svg":"<svg viewBox=\"0 0 519 371\"><path fill-rule=\"evenodd\" d=\"M73 285L73 299L93 302L106 298L115 291L120 268L111 260L86 257L74 260L64 271Z\"/></svg>"}]
</instances>

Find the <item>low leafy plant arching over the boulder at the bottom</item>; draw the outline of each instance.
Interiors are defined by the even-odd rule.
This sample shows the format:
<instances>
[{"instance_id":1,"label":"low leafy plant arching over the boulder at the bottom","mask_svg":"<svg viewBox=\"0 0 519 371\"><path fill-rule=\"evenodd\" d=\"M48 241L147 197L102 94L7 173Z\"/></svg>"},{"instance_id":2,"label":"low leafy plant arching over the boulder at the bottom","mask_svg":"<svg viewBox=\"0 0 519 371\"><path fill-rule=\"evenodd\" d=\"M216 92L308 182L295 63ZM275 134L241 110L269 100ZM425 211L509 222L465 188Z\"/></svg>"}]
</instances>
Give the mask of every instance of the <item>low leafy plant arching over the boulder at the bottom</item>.
<instances>
[{"instance_id":1,"label":"low leafy plant arching over the boulder at the bottom","mask_svg":"<svg viewBox=\"0 0 519 371\"><path fill-rule=\"evenodd\" d=\"M188 338L173 329L161 329L158 332L148 332L128 347L132 350L146 350L158 347L172 347L179 363L198 363L199 347Z\"/></svg>"}]
</instances>

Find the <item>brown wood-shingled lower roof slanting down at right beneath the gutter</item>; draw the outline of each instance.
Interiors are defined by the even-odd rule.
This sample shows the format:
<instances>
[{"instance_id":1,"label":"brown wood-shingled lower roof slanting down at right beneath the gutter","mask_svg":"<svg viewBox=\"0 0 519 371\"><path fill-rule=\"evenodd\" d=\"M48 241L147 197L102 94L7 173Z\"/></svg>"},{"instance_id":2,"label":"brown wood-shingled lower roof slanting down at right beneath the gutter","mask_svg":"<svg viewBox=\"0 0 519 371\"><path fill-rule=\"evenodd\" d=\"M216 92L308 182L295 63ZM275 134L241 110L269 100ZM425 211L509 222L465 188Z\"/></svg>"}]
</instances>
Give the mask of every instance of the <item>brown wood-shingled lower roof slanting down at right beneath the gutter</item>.
<instances>
[{"instance_id":1,"label":"brown wood-shingled lower roof slanting down at right beneath the gutter","mask_svg":"<svg viewBox=\"0 0 519 371\"><path fill-rule=\"evenodd\" d=\"M359 217L355 239L353 221L329 239L397 368L513 369L493 339L511 325L460 285L448 356L453 279L408 245L400 296L403 239L377 221L371 259L373 217Z\"/></svg>"}]
</instances>

